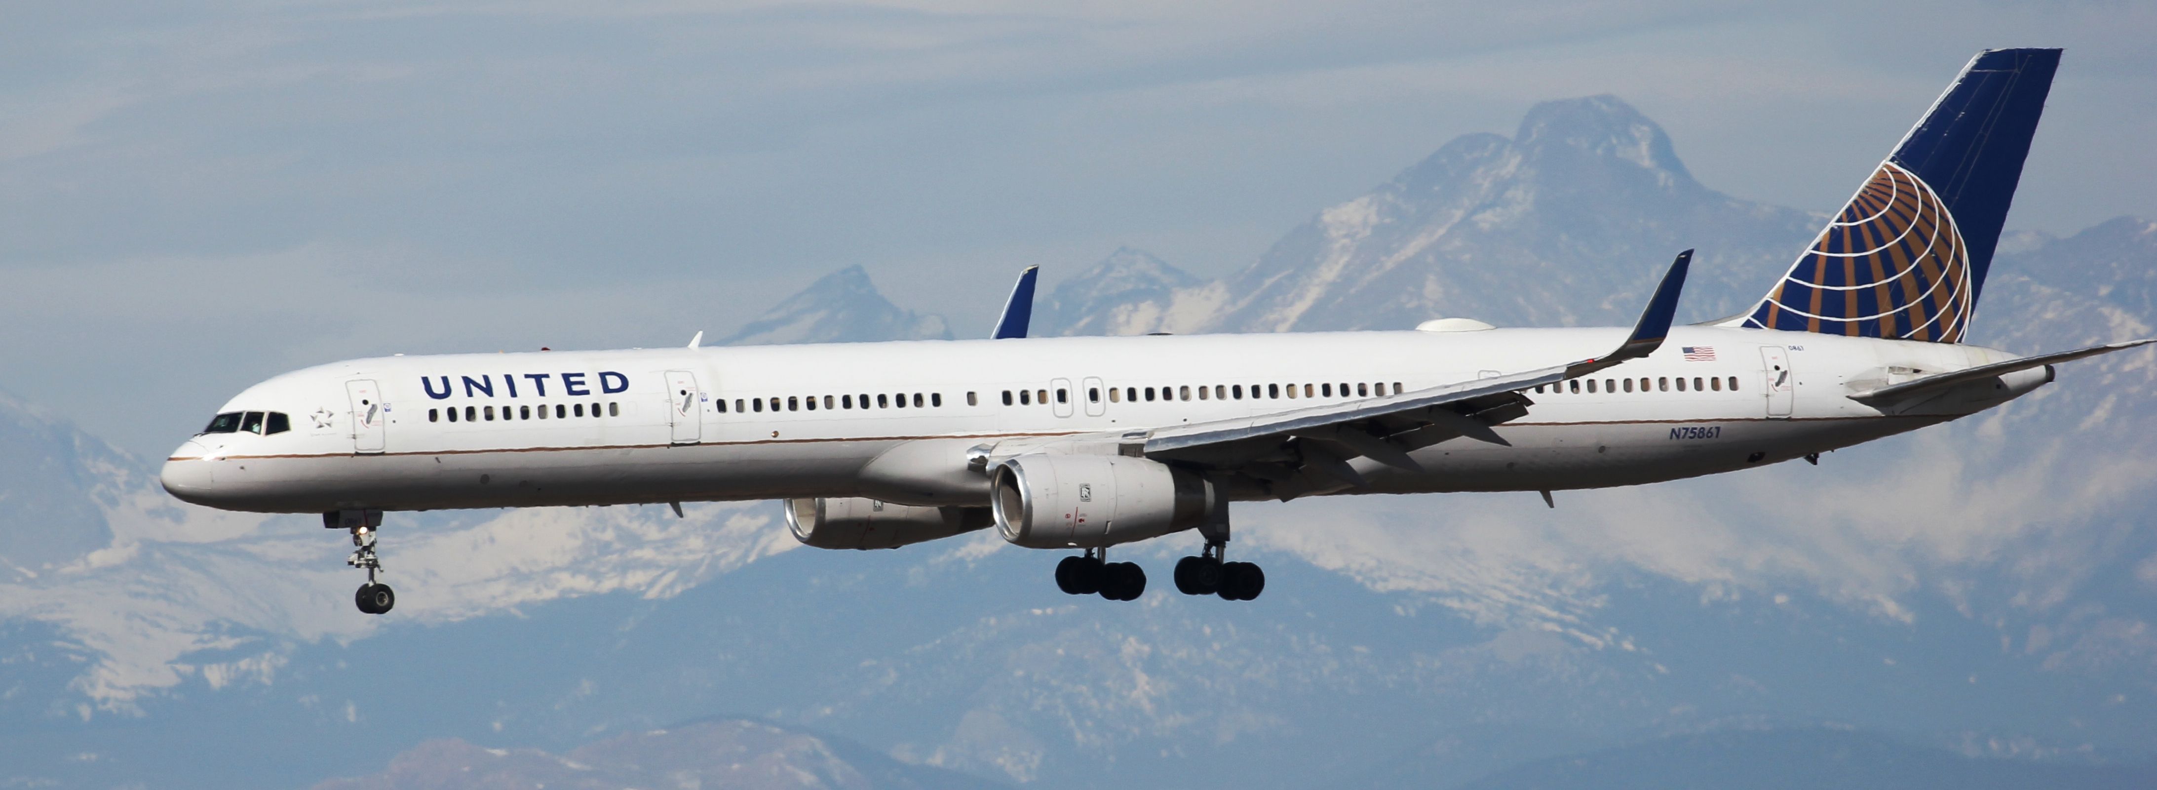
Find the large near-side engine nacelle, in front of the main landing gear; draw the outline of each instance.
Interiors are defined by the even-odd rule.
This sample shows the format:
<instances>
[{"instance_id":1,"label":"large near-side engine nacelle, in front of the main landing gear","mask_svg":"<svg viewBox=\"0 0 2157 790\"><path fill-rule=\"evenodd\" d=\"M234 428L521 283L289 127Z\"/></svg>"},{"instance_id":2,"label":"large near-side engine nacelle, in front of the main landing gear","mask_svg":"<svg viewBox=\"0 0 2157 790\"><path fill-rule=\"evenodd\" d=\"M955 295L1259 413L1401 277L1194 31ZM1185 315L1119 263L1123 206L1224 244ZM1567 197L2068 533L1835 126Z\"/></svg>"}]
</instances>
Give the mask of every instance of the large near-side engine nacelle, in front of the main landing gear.
<instances>
[{"instance_id":1,"label":"large near-side engine nacelle, in front of the main landing gear","mask_svg":"<svg viewBox=\"0 0 2157 790\"><path fill-rule=\"evenodd\" d=\"M1124 455L1018 455L997 466L990 507L1003 540L1027 548L1100 548L1206 522L1204 477Z\"/></svg>"}]
</instances>

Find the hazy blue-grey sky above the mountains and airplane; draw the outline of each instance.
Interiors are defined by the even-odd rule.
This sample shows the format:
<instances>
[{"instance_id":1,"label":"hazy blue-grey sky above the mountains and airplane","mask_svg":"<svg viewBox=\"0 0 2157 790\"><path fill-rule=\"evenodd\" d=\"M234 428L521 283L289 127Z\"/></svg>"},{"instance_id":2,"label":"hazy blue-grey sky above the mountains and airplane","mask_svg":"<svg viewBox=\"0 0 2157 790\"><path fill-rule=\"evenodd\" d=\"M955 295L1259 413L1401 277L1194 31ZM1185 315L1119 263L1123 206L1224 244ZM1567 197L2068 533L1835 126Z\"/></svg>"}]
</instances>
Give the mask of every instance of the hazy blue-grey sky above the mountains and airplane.
<instances>
[{"instance_id":1,"label":"hazy blue-grey sky above the mountains and airplane","mask_svg":"<svg viewBox=\"0 0 2157 790\"><path fill-rule=\"evenodd\" d=\"M17 2L0 389L162 455L285 369L684 343L852 263L986 332L1022 265L1223 274L1590 93L1825 212L2000 45L2066 47L2010 227L2071 233L2157 216L2153 37L2127 2Z\"/></svg>"}]
</instances>

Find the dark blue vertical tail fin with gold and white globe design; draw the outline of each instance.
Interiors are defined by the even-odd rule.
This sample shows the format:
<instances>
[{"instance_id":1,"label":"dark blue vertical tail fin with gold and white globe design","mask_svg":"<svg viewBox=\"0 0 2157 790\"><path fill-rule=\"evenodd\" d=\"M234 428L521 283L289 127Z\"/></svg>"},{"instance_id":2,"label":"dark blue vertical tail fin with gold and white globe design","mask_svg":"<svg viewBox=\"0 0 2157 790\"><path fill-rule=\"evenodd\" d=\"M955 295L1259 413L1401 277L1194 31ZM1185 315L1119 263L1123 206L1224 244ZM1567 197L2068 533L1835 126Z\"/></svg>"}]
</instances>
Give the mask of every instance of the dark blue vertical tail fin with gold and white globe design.
<instances>
[{"instance_id":1,"label":"dark blue vertical tail fin with gold and white globe design","mask_svg":"<svg viewBox=\"0 0 2157 790\"><path fill-rule=\"evenodd\" d=\"M1961 343L2060 50L1984 50L1743 326Z\"/></svg>"}]
</instances>

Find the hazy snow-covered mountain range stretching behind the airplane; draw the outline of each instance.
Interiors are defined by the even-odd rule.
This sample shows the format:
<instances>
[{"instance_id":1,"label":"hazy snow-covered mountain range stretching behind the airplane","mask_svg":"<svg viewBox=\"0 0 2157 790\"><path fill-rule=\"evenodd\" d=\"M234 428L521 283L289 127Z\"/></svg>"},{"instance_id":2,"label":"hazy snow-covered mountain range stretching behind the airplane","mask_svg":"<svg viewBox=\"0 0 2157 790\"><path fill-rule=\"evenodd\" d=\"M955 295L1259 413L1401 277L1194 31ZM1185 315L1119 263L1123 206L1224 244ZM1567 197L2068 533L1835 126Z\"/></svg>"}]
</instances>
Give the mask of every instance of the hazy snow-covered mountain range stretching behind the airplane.
<instances>
[{"instance_id":1,"label":"hazy snow-covered mountain range stretching behind the airplane","mask_svg":"<svg viewBox=\"0 0 2157 790\"><path fill-rule=\"evenodd\" d=\"M1711 317L1812 233L1693 183L1613 99L1538 106L1512 140L1454 140L1355 205L1365 235L1329 235L1335 207L1217 283L1119 250L1050 291L1040 332L1622 322L1620 291L1680 246L1702 248L1685 311ZM2019 237L1976 337L2148 337L2153 237L2127 218ZM850 270L733 341L947 337L928 322ZM1122 548L1156 589L1109 604L1057 594L1055 555L994 535L794 550L768 503L399 514L390 617L352 611L341 533L177 505L151 464L0 401L0 455L26 464L0 479L0 784L457 784L481 762L541 781L516 771L600 766L578 749L710 717L1033 788L1577 788L1596 775L1560 768L1803 751L1823 721L1922 751L1890 758L2133 758L2157 749L2153 384L2146 352L2071 363L2002 410L1821 466L1557 509L1240 505L1234 550L1270 576L1249 604L1163 589L1189 535ZM1762 714L1795 736L1670 740ZM421 747L436 738L477 747ZM729 743L839 786L800 738Z\"/></svg>"}]
</instances>

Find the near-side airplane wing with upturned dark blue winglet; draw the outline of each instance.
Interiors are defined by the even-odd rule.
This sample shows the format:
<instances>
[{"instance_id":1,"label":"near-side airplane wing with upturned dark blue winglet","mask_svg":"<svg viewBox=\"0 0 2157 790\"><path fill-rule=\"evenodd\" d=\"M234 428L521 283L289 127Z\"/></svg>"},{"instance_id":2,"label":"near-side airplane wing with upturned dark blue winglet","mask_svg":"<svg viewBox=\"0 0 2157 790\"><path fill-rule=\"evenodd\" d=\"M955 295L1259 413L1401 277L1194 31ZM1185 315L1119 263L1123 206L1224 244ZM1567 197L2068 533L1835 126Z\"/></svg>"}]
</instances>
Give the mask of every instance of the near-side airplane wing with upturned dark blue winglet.
<instances>
[{"instance_id":1,"label":"near-side airplane wing with upturned dark blue winglet","mask_svg":"<svg viewBox=\"0 0 2157 790\"><path fill-rule=\"evenodd\" d=\"M1348 466L1350 458L1417 468L1409 451L1447 438L1469 436L1503 445L1490 425L1527 414L1534 401L1521 395L1523 389L1588 376L1648 356L1663 345L1691 257L1693 250L1678 255L1633 332L1605 356L1348 404L1160 427L1143 434L1141 451L1148 458L1236 471L1270 483L1296 477L1309 481L1307 473L1316 473L1337 483L1361 486L1363 477ZM1126 442L1132 438L1139 436L1126 436ZM1324 486L1309 486L1318 488Z\"/></svg>"}]
</instances>

